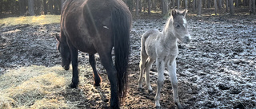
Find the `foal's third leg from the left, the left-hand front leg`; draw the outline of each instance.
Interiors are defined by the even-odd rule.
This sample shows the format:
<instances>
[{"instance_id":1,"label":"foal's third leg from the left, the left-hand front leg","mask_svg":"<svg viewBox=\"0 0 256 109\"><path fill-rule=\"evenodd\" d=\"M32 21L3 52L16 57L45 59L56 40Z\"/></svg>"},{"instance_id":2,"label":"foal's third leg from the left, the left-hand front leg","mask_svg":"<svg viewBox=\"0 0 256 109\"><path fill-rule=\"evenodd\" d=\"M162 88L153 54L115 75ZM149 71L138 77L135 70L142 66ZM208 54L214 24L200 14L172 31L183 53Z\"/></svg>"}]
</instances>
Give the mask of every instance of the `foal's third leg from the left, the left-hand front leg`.
<instances>
[{"instance_id":1,"label":"foal's third leg from the left, the left-hand front leg","mask_svg":"<svg viewBox=\"0 0 256 109\"><path fill-rule=\"evenodd\" d=\"M166 63L162 58L157 58L156 59L156 64L157 64L157 68L158 68L158 88L157 88L157 93L154 97L154 100L155 100L154 106L158 108L158 107L160 107L160 103L159 103L160 91L161 91L162 84L163 84L163 81L164 81L163 72L165 70L165 64Z\"/></svg>"}]
</instances>

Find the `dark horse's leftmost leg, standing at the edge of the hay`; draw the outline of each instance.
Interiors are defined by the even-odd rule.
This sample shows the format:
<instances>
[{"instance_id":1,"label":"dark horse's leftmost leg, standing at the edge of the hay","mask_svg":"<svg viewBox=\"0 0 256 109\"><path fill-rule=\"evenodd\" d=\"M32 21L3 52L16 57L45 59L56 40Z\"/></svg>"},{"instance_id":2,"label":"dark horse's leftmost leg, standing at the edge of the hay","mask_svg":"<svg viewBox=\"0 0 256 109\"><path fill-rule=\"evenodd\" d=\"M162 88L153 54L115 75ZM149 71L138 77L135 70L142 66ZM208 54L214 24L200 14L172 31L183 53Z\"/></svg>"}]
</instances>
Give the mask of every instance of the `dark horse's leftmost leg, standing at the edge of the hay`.
<instances>
[{"instance_id":1,"label":"dark horse's leftmost leg, standing at the edge of the hay","mask_svg":"<svg viewBox=\"0 0 256 109\"><path fill-rule=\"evenodd\" d=\"M79 78L78 78L78 49L74 48L71 43L68 43L70 47L71 61L72 61L72 83L70 88L78 88Z\"/></svg>"}]
</instances>

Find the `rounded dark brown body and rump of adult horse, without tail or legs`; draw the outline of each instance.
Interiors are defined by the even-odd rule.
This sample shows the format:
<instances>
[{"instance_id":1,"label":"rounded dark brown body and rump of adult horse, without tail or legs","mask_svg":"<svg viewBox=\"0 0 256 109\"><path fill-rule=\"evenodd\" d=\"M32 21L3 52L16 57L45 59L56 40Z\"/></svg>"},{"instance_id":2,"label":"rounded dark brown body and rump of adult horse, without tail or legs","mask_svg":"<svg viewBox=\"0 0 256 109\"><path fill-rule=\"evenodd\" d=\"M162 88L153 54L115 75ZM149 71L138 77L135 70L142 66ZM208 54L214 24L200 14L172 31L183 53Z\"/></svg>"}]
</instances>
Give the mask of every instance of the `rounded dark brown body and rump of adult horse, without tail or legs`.
<instances>
[{"instance_id":1,"label":"rounded dark brown body and rump of adult horse, without tail or legs","mask_svg":"<svg viewBox=\"0 0 256 109\"><path fill-rule=\"evenodd\" d=\"M110 49L114 45L111 15L116 8L130 13L120 0L67 0L62 10L62 31L82 52L97 53L98 44Z\"/></svg>"}]
</instances>

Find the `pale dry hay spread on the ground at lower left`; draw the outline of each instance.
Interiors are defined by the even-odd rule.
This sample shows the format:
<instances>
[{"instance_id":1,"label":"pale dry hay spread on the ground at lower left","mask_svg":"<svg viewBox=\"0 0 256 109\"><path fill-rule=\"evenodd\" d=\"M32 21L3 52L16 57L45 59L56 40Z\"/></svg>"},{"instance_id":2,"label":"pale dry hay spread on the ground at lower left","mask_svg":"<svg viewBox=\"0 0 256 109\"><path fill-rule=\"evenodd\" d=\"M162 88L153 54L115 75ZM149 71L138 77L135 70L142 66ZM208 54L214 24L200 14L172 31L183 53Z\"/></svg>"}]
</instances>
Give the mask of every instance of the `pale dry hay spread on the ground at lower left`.
<instances>
[{"instance_id":1,"label":"pale dry hay spread on the ground at lower left","mask_svg":"<svg viewBox=\"0 0 256 109\"><path fill-rule=\"evenodd\" d=\"M77 104L69 102L68 95L78 89L67 88L70 77L71 73L59 66L10 70L0 76L0 109L75 108Z\"/></svg>"}]
</instances>

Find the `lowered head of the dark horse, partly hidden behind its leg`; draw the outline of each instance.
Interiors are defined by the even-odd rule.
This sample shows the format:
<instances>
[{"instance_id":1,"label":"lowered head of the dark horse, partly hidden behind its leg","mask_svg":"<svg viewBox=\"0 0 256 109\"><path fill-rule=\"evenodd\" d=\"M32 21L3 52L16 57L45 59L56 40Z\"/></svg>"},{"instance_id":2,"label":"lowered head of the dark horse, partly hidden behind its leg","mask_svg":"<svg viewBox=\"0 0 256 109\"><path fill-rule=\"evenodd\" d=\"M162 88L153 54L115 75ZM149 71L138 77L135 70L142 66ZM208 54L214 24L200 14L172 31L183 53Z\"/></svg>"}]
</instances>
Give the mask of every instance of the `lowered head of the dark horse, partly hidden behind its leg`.
<instances>
[{"instance_id":1,"label":"lowered head of the dark horse, partly hidden behind its leg","mask_svg":"<svg viewBox=\"0 0 256 109\"><path fill-rule=\"evenodd\" d=\"M62 56L62 67L65 70L69 70L70 62L71 62L69 46L66 44L66 41L61 40L61 37L59 37L57 34L55 37L58 41L58 44L57 44L58 52L61 53L61 56Z\"/></svg>"}]
</instances>

